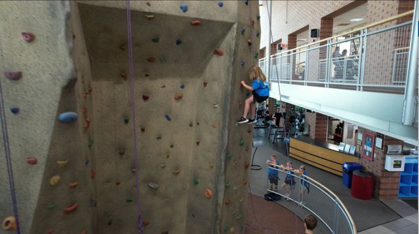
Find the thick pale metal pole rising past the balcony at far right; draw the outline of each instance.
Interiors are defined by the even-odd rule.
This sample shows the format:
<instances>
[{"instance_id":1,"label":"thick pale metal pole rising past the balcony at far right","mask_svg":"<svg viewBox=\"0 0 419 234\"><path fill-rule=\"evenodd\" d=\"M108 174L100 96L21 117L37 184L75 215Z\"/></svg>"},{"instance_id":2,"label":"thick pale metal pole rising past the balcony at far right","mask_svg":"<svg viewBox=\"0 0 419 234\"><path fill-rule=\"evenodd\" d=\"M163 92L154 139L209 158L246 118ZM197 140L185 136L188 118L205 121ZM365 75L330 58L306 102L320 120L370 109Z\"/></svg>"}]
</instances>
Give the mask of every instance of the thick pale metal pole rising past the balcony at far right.
<instances>
[{"instance_id":1,"label":"thick pale metal pole rising past the balcony at far right","mask_svg":"<svg viewBox=\"0 0 419 234\"><path fill-rule=\"evenodd\" d=\"M404 91L402 124L412 125L415 116L416 89L418 88L418 2L413 10L411 43Z\"/></svg>"}]
</instances>

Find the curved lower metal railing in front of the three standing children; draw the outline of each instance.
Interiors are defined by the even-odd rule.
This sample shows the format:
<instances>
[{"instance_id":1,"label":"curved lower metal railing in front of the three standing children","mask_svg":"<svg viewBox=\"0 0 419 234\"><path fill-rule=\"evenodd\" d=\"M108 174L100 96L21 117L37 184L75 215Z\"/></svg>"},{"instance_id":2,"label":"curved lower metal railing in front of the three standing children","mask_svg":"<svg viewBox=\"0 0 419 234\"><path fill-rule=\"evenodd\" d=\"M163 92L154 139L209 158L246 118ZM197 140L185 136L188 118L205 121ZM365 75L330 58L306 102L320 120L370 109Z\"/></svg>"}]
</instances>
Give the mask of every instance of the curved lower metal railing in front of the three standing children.
<instances>
[{"instance_id":1,"label":"curved lower metal railing in front of the three standing children","mask_svg":"<svg viewBox=\"0 0 419 234\"><path fill-rule=\"evenodd\" d=\"M291 174L289 170L272 166L268 165L267 191L277 193L314 214L326 227L321 233L357 233L351 214L335 193L307 175ZM277 185L272 180L275 175L279 179Z\"/></svg>"}]
</instances>

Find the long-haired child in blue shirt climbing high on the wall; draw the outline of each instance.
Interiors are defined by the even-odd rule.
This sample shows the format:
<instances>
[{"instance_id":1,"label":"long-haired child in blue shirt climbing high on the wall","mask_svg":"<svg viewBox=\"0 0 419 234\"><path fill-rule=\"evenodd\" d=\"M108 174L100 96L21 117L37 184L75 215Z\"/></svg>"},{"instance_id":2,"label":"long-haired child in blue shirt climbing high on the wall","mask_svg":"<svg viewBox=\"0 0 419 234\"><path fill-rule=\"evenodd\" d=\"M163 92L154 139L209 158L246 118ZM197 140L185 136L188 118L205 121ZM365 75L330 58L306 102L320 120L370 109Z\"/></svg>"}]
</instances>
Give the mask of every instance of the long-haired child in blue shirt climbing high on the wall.
<instances>
[{"instance_id":1,"label":"long-haired child in blue shirt climbing high on the wall","mask_svg":"<svg viewBox=\"0 0 419 234\"><path fill-rule=\"evenodd\" d=\"M249 98L244 101L244 112L243 116L237 120L237 123L239 124L253 124L256 122L255 117L255 103L262 103L269 97L269 87L267 86L267 81L265 74L263 74L263 71L260 69L260 67L254 65L249 69L249 75L250 80L252 81L251 86L246 85L246 82L242 80L241 84L243 87L248 89L252 92L253 95L249 96ZM250 117L247 119L247 114L249 114L250 110Z\"/></svg>"}]
</instances>

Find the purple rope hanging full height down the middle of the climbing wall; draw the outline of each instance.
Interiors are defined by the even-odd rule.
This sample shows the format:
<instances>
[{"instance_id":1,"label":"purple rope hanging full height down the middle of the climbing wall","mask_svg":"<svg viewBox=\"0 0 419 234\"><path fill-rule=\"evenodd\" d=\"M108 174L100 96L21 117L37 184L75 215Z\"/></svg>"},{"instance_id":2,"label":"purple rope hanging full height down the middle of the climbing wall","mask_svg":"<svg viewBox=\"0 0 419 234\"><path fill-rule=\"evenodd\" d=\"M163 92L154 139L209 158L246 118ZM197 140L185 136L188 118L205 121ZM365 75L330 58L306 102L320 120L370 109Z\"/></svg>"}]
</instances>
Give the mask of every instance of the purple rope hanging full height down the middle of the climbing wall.
<instances>
[{"instance_id":1,"label":"purple rope hanging full height down the middle of the climbing wall","mask_svg":"<svg viewBox=\"0 0 419 234\"><path fill-rule=\"evenodd\" d=\"M131 92L131 114L133 115L133 127L134 127L134 164L135 164L135 191L137 199L137 217L138 217L138 233L142 233L142 215L141 215L141 203L140 203L140 182L138 182L138 157L137 157L137 127L135 121L135 97L134 97L134 78L133 78L133 42L131 36L131 9L129 6L130 0L126 1L126 23L128 26L128 64L129 64L129 89Z\"/></svg>"}]
</instances>

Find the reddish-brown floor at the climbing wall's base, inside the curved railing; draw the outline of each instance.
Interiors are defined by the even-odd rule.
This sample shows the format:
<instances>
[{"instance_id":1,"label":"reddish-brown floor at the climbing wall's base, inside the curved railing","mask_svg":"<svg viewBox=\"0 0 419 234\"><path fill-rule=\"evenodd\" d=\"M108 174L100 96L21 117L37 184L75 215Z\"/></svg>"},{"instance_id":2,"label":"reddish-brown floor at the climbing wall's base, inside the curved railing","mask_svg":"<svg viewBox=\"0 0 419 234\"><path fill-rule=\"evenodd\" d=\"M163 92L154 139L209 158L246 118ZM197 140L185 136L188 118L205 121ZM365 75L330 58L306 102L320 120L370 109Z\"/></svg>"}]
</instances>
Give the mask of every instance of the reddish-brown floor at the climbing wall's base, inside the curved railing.
<instances>
[{"instance_id":1,"label":"reddish-brown floor at the climbing wall's base, inside the curved railing","mask_svg":"<svg viewBox=\"0 0 419 234\"><path fill-rule=\"evenodd\" d=\"M247 203L244 233L304 233L304 224L300 218L282 205L250 194Z\"/></svg>"}]
</instances>

